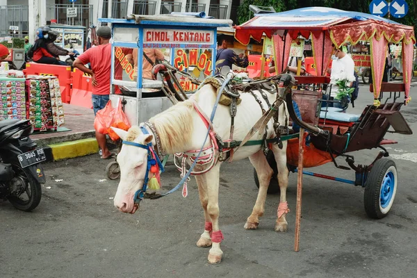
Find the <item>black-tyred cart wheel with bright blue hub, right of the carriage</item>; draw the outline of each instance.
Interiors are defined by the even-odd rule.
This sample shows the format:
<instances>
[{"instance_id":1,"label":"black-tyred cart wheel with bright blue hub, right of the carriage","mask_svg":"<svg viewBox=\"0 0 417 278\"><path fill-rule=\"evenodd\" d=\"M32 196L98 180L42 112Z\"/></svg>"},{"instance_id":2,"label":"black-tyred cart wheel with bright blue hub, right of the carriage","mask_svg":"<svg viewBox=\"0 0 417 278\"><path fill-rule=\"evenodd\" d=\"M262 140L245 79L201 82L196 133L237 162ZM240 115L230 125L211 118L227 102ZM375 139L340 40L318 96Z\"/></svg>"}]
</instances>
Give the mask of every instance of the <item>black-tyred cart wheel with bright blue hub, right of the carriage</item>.
<instances>
[{"instance_id":1,"label":"black-tyred cart wheel with bright blue hub, right of the carriage","mask_svg":"<svg viewBox=\"0 0 417 278\"><path fill-rule=\"evenodd\" d=\"M398 183L397 167L390 158L379 159L366 180L363 204L370 218L388 215L395 199Z\"/></svg>"}]
</instances>

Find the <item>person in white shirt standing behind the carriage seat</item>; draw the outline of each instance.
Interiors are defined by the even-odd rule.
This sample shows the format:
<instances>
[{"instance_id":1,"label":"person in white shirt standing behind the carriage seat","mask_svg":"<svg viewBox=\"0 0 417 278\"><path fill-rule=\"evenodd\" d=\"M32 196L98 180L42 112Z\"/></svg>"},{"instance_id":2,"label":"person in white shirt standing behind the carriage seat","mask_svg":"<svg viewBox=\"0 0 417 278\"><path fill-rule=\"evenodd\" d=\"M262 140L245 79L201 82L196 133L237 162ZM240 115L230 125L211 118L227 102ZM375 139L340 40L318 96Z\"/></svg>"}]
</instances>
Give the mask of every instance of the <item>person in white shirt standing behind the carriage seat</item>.
<instances>
[{"instance_id":1,"label":"person in white shirt standing behind the carriage seat","mask_svg":"<svg viewBox=\"0 0 417 278\"><path fill-rule=\"evenodd\" d=\"M356 80L354 77L354 62L349 55L342 51L342 49L336 49L332 61L332 72L330 74L330 84L332 85L332 90L330 92L330 96L323 95L323 98L332 100L334 97L336 97L338 91L338 85L336 85L336 82L343 79L347 80L347 87L352 87L352 82ZM329 104L329 106L332 105ZM334 103L333 107L345 108L341 107L340 103Z\"/></svg>"}]
</instances>

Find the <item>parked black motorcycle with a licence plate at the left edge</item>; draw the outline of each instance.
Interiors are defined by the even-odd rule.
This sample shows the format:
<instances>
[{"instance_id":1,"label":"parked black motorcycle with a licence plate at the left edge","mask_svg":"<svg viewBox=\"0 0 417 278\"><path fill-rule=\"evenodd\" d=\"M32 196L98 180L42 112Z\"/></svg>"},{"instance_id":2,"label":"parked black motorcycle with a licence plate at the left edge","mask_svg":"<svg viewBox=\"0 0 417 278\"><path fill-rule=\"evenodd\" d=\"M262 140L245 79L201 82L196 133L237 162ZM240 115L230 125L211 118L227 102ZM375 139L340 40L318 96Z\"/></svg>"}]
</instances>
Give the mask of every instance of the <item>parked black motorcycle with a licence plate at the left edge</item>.
<instances>
[{"instance_id":1,"label":"parked black motorcycle with a licence plate at the left edge","mask_svg":"<svg viewBox=\"0 0 417 278\"><path fill-rule=\"evenodd\" d=\"M46 155L29 135L33 126L29 120L0 122L0 198L8 199L15 208L33 211L40 203L46 182L40 164Z\"/></svg>"}]
</instances>

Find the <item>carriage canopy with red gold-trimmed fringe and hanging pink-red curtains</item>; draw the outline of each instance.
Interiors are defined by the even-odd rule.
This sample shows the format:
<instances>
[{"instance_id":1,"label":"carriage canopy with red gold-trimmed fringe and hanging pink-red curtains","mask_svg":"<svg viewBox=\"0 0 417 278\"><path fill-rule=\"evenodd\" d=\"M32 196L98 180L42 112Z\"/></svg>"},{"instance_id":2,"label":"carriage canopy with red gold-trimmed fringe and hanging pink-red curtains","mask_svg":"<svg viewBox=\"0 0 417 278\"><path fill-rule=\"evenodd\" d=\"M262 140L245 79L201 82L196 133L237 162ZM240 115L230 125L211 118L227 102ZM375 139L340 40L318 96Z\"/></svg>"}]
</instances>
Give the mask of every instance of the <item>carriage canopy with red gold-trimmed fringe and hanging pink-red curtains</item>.
<instances>
[{"instance_id":1,"label":"carriage canopy with red gold-trimmed fringe and hanging pink-red curtains","mask_svg":"<svg viewBox=\"0 0 417 278\"><path fill-rule=\"evenodd\" d=\"M354 22L354 24L352 24ZM236 26L236 40L247 44L250 38L261 40L263 33L275 44L276 65L282 72L288 63L291 40L302 35L311 38L313 56L318 74L325 74L334 47L346 42L357 44L370 42L373 70L373 91L379 97L386 52L389 43L402 43L403 79L406 102L413 70L413 46L416 42L414 28L392 20L366 13L350 12L334 8L309 7L282 13L258 14L240 26ZM311 36L311 37L310 37ZM280 54L280 55L277 55Z\"/></svg>"}]
</instances>

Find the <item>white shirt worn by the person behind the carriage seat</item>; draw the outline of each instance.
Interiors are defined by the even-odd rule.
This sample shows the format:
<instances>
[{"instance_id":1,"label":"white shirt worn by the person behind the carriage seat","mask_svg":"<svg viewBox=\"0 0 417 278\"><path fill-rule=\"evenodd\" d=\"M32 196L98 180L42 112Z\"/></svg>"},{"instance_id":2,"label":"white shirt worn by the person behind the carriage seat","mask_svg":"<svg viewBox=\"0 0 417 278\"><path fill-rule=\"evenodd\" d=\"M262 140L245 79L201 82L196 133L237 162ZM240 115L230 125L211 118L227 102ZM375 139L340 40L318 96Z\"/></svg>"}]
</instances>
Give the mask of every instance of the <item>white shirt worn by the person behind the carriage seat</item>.
<instances>
[{"instance_id":1,"label":"white shirt worn by the person behind the carriage seat","mask_svg":"<svg viewBox=\"0 0 417 278\"><path fill-rule=\"evenodd\" d=\"M332 73L330 74L330 84L332 84L332 92L330 97L336 97L338 85L336 82L338 80L347 79L348 82L355 81L354 77L354 62L349 55L340 59L335 59L332 62Z\"/></svg>"}]
</instances>

